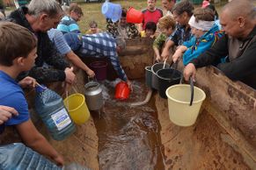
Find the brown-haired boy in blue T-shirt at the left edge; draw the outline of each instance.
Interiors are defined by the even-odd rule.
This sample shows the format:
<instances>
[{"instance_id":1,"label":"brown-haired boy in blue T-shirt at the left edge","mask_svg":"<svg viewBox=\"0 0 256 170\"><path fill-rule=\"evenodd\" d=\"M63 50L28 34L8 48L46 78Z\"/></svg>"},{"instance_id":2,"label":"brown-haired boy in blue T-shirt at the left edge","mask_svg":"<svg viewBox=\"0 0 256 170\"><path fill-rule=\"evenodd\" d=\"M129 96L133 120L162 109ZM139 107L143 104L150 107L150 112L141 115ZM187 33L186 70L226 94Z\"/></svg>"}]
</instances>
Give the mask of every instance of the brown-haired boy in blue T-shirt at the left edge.
<instances>
[{"instance_id":1,"label":"brown-haired boy in blue T-shirt at the left edge","mask_svg":"<svg viewBox=\"0 0 256 170\"><path fill-rule=\"evenodd\" d=\"M34 127L24 92L15 81L18 74L33 67L37 57L37 39L25 27L10 22L0 22L0 37L0 105L18 111L18 116L11 117L5 125L15 126L27 146L63 166L62 156ZM25 81L19 83L24 85Z\"/></svg>"}]
</instances>

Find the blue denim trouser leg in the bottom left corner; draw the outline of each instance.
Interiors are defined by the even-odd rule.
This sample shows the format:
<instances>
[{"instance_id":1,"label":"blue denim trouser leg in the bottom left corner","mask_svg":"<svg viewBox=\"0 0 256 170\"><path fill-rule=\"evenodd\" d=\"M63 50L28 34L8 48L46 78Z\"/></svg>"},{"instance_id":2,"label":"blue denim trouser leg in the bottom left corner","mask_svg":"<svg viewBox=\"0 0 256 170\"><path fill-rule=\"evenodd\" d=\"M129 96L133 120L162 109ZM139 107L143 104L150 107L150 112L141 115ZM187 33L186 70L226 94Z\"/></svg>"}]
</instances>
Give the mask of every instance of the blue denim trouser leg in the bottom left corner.
<instances>
[{"instance_id":1,"label":"blue denim trouser leg in the bottom left corner","mask_svg":"<svg viewBox=\"0 0 256 170\"><path fill-rule=\"evenodd\" d=\"M22 170L22 169L56 169L53 162L34 152L26 145L14 143L0 146L0 169Z\"/></svg>"}]
</instances>

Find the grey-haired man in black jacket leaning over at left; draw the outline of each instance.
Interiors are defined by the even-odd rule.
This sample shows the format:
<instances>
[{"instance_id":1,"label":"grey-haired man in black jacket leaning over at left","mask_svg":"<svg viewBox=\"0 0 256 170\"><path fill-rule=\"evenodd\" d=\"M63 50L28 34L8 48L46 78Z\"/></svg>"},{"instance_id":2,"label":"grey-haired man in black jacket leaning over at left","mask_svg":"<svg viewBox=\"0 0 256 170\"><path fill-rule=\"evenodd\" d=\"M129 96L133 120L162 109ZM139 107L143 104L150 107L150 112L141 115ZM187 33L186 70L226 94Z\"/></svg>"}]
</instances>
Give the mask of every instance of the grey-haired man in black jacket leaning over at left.
<instances>
[{"instance_id":1,"label":"grey-haired man in black jacket leaning over at left","mask_svg":"<svg viewBox=\"0 0 256 170\"><path fill-rule=\"evenodd\" d=\"M32 0L28 7L22 6L12 11L7 18L9 21L26 27L38 39L35 66L29 75L39 82L66 81L73 83L76 75L72 68L55 49L55 45L48 38L47 31L56 27L62 18L62 8L55 0ZM43 67L47 63L49 66ZM25 75L26 76L26 75ZM19 76L19 78L23 78Z\"/></svg>"}]
</instances>

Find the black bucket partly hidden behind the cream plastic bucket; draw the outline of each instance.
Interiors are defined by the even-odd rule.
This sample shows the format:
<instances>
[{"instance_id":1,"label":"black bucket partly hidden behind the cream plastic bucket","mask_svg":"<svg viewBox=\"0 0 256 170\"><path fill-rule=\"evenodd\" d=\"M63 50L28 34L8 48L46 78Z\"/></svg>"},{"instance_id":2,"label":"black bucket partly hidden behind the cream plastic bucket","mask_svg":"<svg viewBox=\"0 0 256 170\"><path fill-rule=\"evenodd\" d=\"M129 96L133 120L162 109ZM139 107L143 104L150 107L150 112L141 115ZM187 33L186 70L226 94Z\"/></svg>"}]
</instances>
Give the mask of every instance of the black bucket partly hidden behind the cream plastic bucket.
<instances>
[{"instance_id":1,"label":"black bucket partly hidden behind the cream plastic bucket","mask_svg":"<svg viewBox=\"0 0 256 170\"><path fill-rule=\"evenodd\" d=\"M173 71L175 71L173 73ZM157 79L158 79L158 93L159 96L162 98L167 98L165 91L168 89L170 86L174 84L179 84L179 81L181 79L181 72L179 70L175 70L173 68L165 68L165 69L160 69L157 71Z\"/></svg>"}]
</instances>

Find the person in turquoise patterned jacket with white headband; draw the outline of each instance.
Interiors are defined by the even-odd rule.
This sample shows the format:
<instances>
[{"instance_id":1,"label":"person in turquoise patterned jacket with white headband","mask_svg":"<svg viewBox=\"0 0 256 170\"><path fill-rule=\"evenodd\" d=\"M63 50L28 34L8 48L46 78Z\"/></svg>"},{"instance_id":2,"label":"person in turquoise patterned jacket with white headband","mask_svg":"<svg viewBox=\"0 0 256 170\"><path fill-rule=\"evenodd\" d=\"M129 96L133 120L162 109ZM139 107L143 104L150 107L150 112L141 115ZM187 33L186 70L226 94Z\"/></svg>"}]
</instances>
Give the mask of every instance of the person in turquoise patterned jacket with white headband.
<instances>
[{"instance_id":1,"label":"person in turquoise patterned jacket with white headband","mask_svg":"<svg viewBox=\"0 0 256 170\"><path fill-rule=\"evenodd\" d=\"M183 55L185 66L190 60L208 50L215 43L216 33L219 32L219 28L215 24L214 12L208 8L196 9L188 24L194 37L179 46L172 56L173 62L176 62Z\"/></svg>"}]
</instances>

